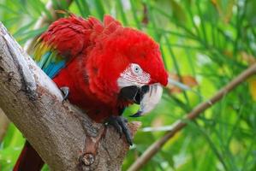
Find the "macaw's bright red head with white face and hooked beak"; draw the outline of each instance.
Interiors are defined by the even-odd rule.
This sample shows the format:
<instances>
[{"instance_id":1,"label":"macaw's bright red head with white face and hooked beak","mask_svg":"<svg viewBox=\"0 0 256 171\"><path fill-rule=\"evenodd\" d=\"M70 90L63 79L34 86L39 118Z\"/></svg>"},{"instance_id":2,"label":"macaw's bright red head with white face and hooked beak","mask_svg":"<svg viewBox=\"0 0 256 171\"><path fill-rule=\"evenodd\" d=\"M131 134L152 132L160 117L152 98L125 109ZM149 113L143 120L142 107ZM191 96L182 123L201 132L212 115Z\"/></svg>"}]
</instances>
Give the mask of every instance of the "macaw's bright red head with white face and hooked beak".
<instances>
[{"instance_id":1,"label":"macaw's bright red head with white face and hooked beak","mask_svg":"<svg viewBox=\"0 0 256 171\"><path fill-rule=\"evenodd\" d=\"M91 89L106 103L115 96L117 101L138 103L140 109L133 116L144 115L156 106L168 84L159 46L146 33L122 27L114 19L104 25L87 62Z\"/></svg>"}]
</instances>

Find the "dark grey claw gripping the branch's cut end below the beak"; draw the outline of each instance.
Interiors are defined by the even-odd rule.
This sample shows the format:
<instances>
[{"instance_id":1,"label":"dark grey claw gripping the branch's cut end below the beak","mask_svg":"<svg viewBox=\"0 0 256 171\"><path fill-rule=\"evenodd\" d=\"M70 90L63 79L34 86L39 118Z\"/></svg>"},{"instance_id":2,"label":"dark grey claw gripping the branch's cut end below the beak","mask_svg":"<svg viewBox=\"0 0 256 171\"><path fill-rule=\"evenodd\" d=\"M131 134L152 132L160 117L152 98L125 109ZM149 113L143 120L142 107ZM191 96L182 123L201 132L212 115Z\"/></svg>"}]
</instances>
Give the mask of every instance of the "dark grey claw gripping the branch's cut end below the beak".
<instances>
[{"instance_id":1,"label":"dark grey claw gripping the branch's cut end below the beak","mask_svg":"<svg viewBox=\"0 0 256 171\"><path fill-rule=\"evenodd\" d=\"M120 138L122 137L122 133L125 135L125 138L128 142L128 144L133 145L133 140L131 133L127 126L128 120L125 119L122 116L110 116L110 118L107 121L107 125L112 125L116 128L116 132L119 133Z\"/></svg>"}]
</instances>

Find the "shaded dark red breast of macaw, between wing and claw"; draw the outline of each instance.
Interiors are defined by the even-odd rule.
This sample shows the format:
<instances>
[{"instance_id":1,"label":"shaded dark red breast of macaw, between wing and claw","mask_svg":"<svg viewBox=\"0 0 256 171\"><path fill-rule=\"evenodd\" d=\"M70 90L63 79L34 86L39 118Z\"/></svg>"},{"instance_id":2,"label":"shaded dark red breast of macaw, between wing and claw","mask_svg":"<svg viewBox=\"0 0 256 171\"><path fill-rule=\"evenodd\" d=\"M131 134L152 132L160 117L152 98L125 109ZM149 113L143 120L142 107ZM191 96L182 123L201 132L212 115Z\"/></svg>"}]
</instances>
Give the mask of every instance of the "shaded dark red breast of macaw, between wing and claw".
<instances>
[{"instance_id":1,"label":"shaded dark red breast of macaw, between wing and claw","mask_svg":"<svg viewBox=\"0 0 256 171\"><path fill-rule=\"evenodd\" d=\"M119 107L115 103L117 94L109 96L111 103L104 103L102 97L98 97L98 94L91 91L85 69L78 66L80 66L79 58L70 62L53 79L58 87L68 86L69 102L85 110L93 121L103 122L110 115L119 115Z\"/></svg>"}]
</instances>

